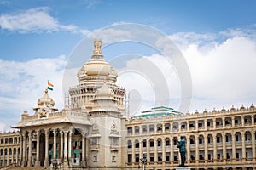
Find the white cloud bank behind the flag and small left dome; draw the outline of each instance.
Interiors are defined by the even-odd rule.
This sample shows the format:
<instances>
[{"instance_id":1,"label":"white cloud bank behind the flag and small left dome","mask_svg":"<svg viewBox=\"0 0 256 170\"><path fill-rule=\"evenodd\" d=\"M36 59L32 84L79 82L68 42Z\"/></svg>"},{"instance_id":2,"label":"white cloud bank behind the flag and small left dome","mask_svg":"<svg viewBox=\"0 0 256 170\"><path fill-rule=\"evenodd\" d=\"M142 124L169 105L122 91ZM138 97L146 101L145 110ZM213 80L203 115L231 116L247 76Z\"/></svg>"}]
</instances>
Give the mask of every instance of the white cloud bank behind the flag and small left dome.
<instances>
[{"instance_id":1,"label":"white cloud bank behind the flag and small left dome","mask_svg":"<svg viewBox=\"0 0 256 170\"><path fill-rule=\"evenodd\" d=\"M32 114L32 108L37 106L37 100L44 95L48 80L55 85L49 96L55 100L55 106L62 109L61 84L66 65L64 56L55 59L32 59L26 62L0 60L0 65L1 114L20 116L24 109Z\"/></svg>"}]
</instances>

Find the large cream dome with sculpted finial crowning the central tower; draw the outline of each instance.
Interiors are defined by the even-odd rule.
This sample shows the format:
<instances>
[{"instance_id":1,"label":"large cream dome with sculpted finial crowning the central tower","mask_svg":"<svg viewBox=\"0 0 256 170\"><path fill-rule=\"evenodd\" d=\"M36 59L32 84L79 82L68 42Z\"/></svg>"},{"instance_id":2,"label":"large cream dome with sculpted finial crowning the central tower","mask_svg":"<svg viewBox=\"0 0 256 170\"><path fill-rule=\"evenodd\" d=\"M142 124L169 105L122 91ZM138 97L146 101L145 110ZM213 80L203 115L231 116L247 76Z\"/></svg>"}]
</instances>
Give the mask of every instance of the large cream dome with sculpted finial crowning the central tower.
<instances>
[{"instance_id":1,"label":"large cream dome with sculpted finial crowning the central tower","mask_svg":"<svg viewBox=\"0 0 256 170\"><path fill-rule=\"evenodd\" d=\"M102 41L94 41L93 55L78 71L79 84L116 82L117 71L103 58L101 46Z\"/></svg>"}]
</instances>

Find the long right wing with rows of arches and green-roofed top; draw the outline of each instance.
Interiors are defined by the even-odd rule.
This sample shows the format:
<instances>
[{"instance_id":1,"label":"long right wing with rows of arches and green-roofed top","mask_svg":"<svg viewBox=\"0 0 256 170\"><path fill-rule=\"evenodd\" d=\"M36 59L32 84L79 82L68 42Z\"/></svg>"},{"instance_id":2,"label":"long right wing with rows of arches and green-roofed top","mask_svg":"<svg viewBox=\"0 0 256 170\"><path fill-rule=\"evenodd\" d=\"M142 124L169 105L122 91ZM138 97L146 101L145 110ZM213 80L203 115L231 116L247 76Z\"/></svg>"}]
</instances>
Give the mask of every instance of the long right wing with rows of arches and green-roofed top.
<instances>
[{"instance_id":1,"label":"long right wing with rows of arches and green-roofed top","mask_svg":"<svg viewBox=\"0 0 256 170\"><path fill-rule=\"evenodd\" d=\"M177 167L177 140L183 135L186 165L192 169L256 169L254 105L185 115L166 109L153 108L126 120L128 166L138 168L140 158L146 156L148 170Z\"/></svg>"}]
</instances>

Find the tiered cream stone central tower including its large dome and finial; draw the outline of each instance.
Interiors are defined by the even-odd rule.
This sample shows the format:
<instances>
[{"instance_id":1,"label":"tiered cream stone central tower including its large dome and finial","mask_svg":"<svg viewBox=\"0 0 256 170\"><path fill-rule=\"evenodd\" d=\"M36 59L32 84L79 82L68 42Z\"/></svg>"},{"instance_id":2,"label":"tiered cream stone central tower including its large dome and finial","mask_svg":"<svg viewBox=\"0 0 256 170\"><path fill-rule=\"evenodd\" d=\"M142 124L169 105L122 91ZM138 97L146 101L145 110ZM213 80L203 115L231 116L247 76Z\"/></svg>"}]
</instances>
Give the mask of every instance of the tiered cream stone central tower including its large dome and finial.
<instances>
[{"instance_id":1,"label":"tiered cream stone central tower including its large dome and finial","mask_svg":"<svg viewBox=\"0 0 256 170\"><path fill-rule=\"evenodd\" d=\"M77 76L79 84L69 90L71 111L84 107L90 115L89 150L90 168L119 169L125 153L125 89L116 85L117 71L102 55L102 41L94 41L90 60L82 65Z\"/></svg>"}]
</instances>

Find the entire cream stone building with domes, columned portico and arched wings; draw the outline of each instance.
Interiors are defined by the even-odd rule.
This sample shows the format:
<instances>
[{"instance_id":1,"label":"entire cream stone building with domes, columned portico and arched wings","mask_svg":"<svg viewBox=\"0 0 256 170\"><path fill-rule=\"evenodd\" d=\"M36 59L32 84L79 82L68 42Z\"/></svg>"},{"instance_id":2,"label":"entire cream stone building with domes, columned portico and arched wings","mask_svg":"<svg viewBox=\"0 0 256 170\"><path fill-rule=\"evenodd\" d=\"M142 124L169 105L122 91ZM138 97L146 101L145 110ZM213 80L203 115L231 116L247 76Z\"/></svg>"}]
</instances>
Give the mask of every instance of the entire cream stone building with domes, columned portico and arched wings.
<instances>
[{"instance_id":1,"label":"entire cream stone building with domes, columned portico and arched wings","mask_svg":"<svg viewBox=\"0 0 256 170\"><path fill-rule=\"evenodd\" d=\"M256 109L182 114L156 107L125 117L125 89L104 60L101 41L78 71L79 84L70 88L71 104L62 111L45 90L33 108L25 110L15 133L0 133L0 167L83 167L174 169L177 139L187 143L186 164L193 169L256 169Z\"/></svg>"}]
</instances>

